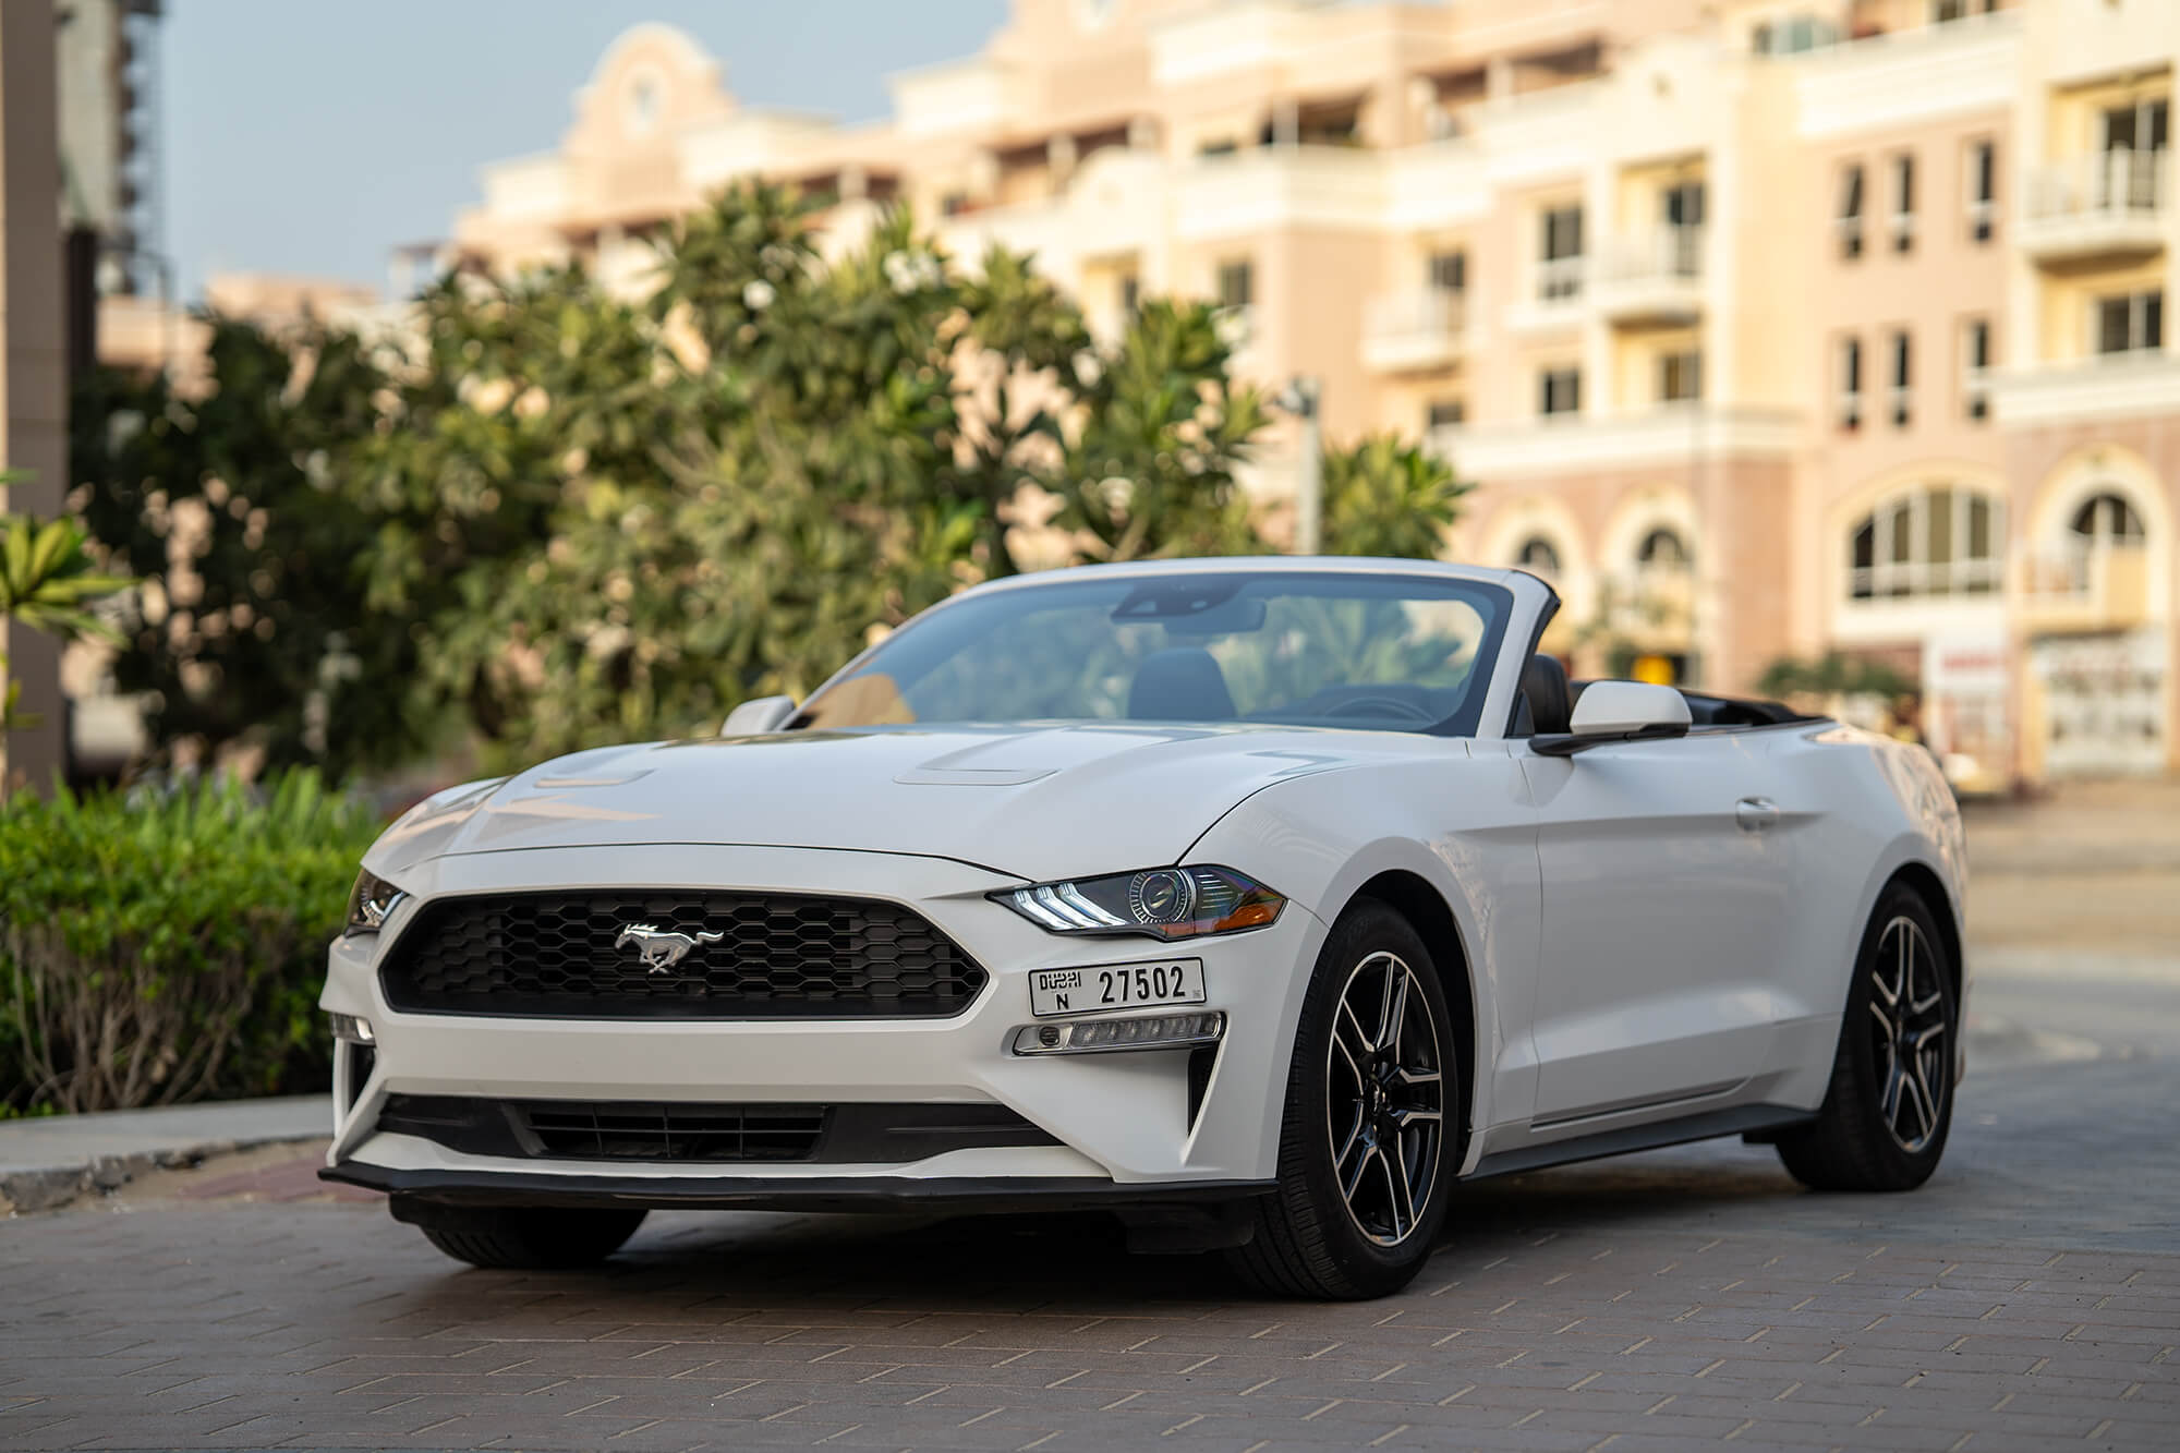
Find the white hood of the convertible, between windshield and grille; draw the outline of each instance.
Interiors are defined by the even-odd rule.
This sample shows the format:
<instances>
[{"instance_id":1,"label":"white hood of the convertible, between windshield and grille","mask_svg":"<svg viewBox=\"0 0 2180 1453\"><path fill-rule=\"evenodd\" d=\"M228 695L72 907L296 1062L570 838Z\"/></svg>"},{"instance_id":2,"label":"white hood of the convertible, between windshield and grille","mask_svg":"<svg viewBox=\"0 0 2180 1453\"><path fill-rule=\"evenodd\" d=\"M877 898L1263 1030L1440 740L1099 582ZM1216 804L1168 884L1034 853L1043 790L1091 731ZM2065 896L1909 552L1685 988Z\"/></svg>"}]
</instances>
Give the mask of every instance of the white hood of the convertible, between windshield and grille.
<instances>
[{"instance_id":1,"label":"white hood of the convertible, between windshield and grille","mask_svg":"<svg viewBox=\"0 0 2180 1453\"><path fill-rule=\"evenodd\" d=\"M419 803L366 855L706 842L950 857L1025 879L1177 862L1251 792L1450 742L1301 726L944 726L610 746Z\"/></svg>"}]
</instances>

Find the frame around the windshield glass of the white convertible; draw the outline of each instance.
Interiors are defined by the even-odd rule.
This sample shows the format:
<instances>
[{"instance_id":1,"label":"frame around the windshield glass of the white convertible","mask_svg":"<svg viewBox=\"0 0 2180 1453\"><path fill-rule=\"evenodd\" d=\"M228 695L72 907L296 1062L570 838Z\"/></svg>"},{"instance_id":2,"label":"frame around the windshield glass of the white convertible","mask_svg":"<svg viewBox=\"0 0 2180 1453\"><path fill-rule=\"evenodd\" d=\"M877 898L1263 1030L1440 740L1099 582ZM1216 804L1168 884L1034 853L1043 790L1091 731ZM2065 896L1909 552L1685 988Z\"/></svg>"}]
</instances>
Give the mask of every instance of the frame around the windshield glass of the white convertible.
<instances>
[{"instance_id":1,"label":"frame around the windshield glass of the white convertible","mask_svg":"<svg viewBox=\"0 0 2180 1453\"><path fill-rule=\"evenodd\" d=\"M1491 716L1487 716L1487 709L1489 709L1489 703L1500 694L1498 692L1498 676L1500 676L1500 668L1504 665L1504 646L1506 646L1506 641L1513 639L1513 637L1517 637L1517 635L1526 635L1526 626L1517 628L1515 622L1533 615L1533 611L1535 611L1535 604L1528 602L1528 600L1524 600L1526 591L1522 589L1522 585L1535 583L1530 576L1524 576L1519 572L1445 569L1445 567L1432 567L1432 563L1426 563L1426 561L1384 561L1382 569L1367 569L1367 567L1354 567L1354 565L1334 563L1334 561L1323 561L1323 563L1310 561L1308 565L1304 565L1301 561L1288 561L1288 559L1282 559L1282 556L1273 556L1273 559L1236 556L1236 559L1216 559L1216 561L1155 561L1155 563L1147 561L1142 565L1086 565L1086 567L1075 567L1075 569L1038 572L1033 576L1009 576L1009 578L998 580L998 583L988 583L988 585L972 587L968 591L961 591L959 596L953 596L953 598L942 600L942 602L937 602L933 607L927 607L924 611L918 611L913 617L909 617L898 628L894 628L883 641L874 641L872 646L859 650L852 661L848 661L837 672L833 672L818 689L813 689L809 694L809 698L804 698L800 703L800 707L796 709L796 713L780 726L780 731L809 731L809 729L813 729L813 720L809 716L811 703L820 700L822 696L826 696L835 687L839 687L839 685L857 679L859 674L863 674L870 668L870 663L872 663L874 657L879 657L887 648L892 648L898 641L903 641L909 633L929 628L929 624L933 620L944 617L948 611L955 611L955 609L966 607L970 602L988 602L988 600L992 600L998 593L1016 596L1016 593L1022 593L1022 591L1053 591L1053 589L1059 589L1059 587L1066 587L1066 585L1086 585L1090 580L1101 580L1101 583L1103 580L1112 580L1112 583L1121 583L1121 580L1182 580L1182 578L1188 578L1188 576L1240 576L1245 580L1269 580L1269 583L1277 583L1282 578L1286 578L1286 580L1312 580L1312 583L1369 580L1369 583L1376 583L1376 585L1384 585L1384 583L1402 580L1404 578L1404 580L1413 580L1419 587L1419 591L1417 591L1419 596L1441 596L1443 593L1445 598L1461 598L1463 591L1469 591L1469 593L1482 596L1489 602L1489 607L1491 607L1489 611L1478 611L1478 615L1485 615L1485 628L1482 628L1482 637L1476 644L1474 665L1469 668L1469 676L1465 681L1461 707L1452 716L1448 716L1443 720L1428 722L1428 724L1415 724L1415 726L1406 726L1406 724L1397 724L1395 726L1395 724L1384 724L1384 722L1352 722L1352 724L1341 724L1341 726L1321 726L1321 724L1275 722L1275 720L1254 722L1254 720L1236 718L1236 720L1230 720L1230 722L1201 722L1203 726L1275 726L1275 729L1295 729L1295 731L1382 731L1382 733L1397 733L1397 735L1430 735L1430 737L1478 737L1478 735L1487 735L1487 731L1489 731L1489 735L1500 735L1493 729L1495 722L1493 722ZM1535 585L1541 585L1541 583L1535 583ZM1543 591L1550 598L1550 587L1543 587ZM1025 602L1025 607L1027 607L1027 602ZM1134 720L1134 718L1101 718L1101 716L1051 718L1051 722L1068 722L1068 724L1081 722L1081 724L1097 724L1097 726L1125 726L1129 720ZM839 724L835 729L837 731L913 731L922 722L900 722L900 724L879 724L879 722L855 724L855 722L850 722L850 724ZM933 724L957 724L957 722L933 722ZM990 722L977 722L977 724L1025 726L1025 724L1029 724L1029 720L1027 718L1025 720L990 720Z\"/></svg>"}]
</instances>

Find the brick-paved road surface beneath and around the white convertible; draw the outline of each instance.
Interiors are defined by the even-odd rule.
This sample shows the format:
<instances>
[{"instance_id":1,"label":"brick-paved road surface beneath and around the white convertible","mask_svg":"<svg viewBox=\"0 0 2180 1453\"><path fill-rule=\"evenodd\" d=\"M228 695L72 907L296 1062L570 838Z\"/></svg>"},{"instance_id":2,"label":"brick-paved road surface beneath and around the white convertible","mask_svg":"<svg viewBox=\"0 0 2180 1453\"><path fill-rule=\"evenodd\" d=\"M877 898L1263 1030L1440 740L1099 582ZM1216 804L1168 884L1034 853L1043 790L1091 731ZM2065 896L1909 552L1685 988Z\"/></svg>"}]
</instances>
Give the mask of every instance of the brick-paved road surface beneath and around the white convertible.
<instances>
[{"instance_id":1,"label":"brick-paved road surface beneath and around the white convertible","mask_svg":"<svg viewBox=\"0 0 2180 1453\"><path fill-rule=\"evenodd\" d=\"M473 1272L272 1167L0 1226L0 1449L2169 1449L2176 1091L1971 1080L1905 1198L1733 1143L1472 1187L1349 1307L1094 1222L663 1215L602 1274Z\"/></svg>"}]
</instances>

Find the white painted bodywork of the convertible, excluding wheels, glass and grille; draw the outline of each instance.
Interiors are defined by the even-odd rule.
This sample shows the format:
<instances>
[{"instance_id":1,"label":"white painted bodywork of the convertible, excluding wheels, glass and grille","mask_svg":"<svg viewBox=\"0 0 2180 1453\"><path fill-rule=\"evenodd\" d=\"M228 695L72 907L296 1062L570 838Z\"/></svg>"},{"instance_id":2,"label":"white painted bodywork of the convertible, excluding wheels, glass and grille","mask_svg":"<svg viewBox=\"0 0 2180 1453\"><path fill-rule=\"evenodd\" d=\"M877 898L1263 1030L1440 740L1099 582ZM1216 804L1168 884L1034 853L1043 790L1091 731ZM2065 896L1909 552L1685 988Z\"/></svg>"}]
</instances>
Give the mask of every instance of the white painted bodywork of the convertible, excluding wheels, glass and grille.
<instances>
[{"instance_id":1,"label":"white painted bodywork of the convertible, excluding wheels, glass and grille","mask_svg":"<svg viewBox=\"0 0 2180 1453\"><path fill-rule=\"evenodd\" d=\"M364 860L405 892L384 929L329 953L323 1008L368 1021L377 1038L353 1084L358 1049L338 1054L334 1174L488 1187L538 1172L379 1130L399 1093L996 1104L1057 1141L702 1167L722 1191L756 1180L1262 1189L1277 1172L1310 971L1373 879L1432 894L1450 923L1426 940L1450 997L1474 1014L1463 1172L1506 1169L1692 1115L1814 1110L1849 969L1894 873L1936 884L1960 940L1960 818L1918 748L1814 720L1581 755L1511 737L1522 663L1557 607L1530 576L1400 561L1099 569L1452 576L1509 591L1513 615L1472 737L1162 722L789 731L600 748L443 792ZM1077 572L972 593L1066 574ZM1012 1049L1031 1023L1033 969L1175 949L1053 934L990 897L1168 864L1219 864L1286 897L1269 927L1186 942L1203 960L1206 1008L1227 1017L1192 1121L1188 1049ZM881 899L929 918L990 982L946 1019L525 1019L388 1004L382 960L425 905L562 888ZM569 1185L691 1180L689 1165L549 1169Z\"/></svg>"}]
</instances>

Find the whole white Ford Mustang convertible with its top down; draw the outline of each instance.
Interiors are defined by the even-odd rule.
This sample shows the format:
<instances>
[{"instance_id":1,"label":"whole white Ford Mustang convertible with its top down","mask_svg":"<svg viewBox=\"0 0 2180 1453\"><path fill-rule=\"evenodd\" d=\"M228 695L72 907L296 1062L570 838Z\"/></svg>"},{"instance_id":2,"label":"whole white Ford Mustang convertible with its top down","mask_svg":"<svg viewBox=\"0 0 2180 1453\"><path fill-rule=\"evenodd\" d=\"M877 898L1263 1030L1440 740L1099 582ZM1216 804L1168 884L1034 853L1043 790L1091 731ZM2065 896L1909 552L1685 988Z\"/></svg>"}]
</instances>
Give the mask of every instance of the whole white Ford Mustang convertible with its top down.
<instances>
[{"instance_id":1,"label":"whole white Ford Mustang convertible with its top down","mask_svg":"<svg viewBox=\"0 0 2180 1453\"><path fill-rule=\"evenodd\" d=\"M1716 1134L1908 1189L1960 1076L1931 759L1570 685L1511 569L1020 576L800 707L440 792L331 947L327 1178L477 1265L652 1206L1110 1206L1404 1285L1456 1182Z\"/></svg>"}]
</instances>

